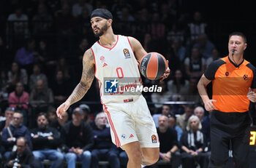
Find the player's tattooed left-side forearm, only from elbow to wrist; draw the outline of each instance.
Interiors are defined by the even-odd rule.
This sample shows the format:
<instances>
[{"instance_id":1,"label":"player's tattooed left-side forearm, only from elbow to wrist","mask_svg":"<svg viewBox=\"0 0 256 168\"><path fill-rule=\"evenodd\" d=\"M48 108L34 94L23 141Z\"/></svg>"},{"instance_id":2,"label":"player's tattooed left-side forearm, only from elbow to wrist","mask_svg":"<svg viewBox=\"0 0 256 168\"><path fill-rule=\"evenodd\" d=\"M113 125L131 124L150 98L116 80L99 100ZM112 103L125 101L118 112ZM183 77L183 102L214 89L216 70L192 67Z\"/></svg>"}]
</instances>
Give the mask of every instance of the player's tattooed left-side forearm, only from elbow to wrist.
<instances>
[{"instance_id":1,"label":"player's tattooed left-side forearm, only from elbow to wrist","mask_svg":"<svg viewBox=\"0 0 256 168\"><path fill-rule=\"evenodd\" d=\"M67 102L70 105L78 102L86 95L86 92L89 90L90 86L88 84L84 84L83 82L79 82L79 84L75 87L72 94L68 97Z\"/></svg>"}]
</instances>

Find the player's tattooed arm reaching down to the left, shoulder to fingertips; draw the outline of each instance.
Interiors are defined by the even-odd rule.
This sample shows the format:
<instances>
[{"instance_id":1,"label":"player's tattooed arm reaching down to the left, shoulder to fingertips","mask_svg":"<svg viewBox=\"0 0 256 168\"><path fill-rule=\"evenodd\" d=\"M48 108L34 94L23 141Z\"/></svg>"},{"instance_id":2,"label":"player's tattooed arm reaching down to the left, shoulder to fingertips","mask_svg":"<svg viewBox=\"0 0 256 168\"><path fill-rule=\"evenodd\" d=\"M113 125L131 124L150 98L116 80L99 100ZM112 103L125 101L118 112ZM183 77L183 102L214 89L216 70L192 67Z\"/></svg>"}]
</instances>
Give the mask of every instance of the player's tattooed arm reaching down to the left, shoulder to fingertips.
<instances>
[{"instance_id":1,"label":"player's tattooed arm reaching down to the left, shoulder to fingertips","mask_svg":"<svg viewBox=\"0 0 256 168\"><path fill-rule=\"evenodd\" d=\"M78 102L86 95L86 92L91 87L91 83L94 80L94 56L91 49L88 49L83 55L83 73L79 84L75 87L72 94L67 100L57 108L57 116L62 119L62 113L67 111L70 105Z\"/></svg>"}]
</instances>

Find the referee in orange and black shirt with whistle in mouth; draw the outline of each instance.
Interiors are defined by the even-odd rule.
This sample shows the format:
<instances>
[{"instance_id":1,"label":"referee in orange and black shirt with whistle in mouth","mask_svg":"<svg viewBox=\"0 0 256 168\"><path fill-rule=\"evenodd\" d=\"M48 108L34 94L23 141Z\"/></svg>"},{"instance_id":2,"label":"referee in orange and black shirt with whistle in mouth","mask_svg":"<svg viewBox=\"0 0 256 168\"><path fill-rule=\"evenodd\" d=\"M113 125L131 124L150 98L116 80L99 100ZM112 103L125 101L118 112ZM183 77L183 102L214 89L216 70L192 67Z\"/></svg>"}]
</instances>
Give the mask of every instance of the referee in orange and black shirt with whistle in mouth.
<instances>
[{"instance_id":1,"label":"referee in orange and black shirt with whistle in mouth","mask_svg":"<svg viewBox=\"0 0 256 168\"><path fill-rule=\"evenodd\" d=\"M229 36L229 55L215 60L197 84L207 111L211 113L210 167L223 167L228 151L233 150L235 167L249 167L249 102L256 102L256 68L244 60L247 47L243 33ZM212 81L213 96L209 99L206 85Z\"/></svg>"}]
</instances>

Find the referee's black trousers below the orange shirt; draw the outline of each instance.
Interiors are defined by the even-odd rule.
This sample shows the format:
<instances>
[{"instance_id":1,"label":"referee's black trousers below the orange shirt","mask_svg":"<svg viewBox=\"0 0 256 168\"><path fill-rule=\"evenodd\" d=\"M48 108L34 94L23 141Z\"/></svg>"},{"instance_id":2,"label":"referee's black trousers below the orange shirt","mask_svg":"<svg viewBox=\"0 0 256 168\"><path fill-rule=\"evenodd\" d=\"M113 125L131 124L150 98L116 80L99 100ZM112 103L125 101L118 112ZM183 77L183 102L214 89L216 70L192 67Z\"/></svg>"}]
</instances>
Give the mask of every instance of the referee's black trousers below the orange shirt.
<instances>
[{"instance_id":1,"label":"referee's black trousers below the orange shirt","mask_svg":"<svg viewBox=\"0 0 256 168\"><path fill-rule=\"evenodd\" d=\"M228 160L228 151L233 150L236 168L249 167L249 137L251 119L249 113L211 114L211 160L209 167L223 167Z\"/></svg>"}]
</instances>

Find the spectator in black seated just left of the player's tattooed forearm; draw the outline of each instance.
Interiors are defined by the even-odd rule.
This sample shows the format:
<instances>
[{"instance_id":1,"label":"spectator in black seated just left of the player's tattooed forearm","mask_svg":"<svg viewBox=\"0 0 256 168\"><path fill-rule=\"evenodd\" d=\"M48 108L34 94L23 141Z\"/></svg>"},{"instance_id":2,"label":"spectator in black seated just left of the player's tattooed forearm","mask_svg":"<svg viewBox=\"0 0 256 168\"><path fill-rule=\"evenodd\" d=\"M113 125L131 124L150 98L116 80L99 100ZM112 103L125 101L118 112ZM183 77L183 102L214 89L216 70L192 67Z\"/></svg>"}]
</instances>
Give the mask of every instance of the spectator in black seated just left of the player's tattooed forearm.
<instances>
[{"instance_id":1,"label":"spectator in black seated just left of the player's tattooed forearm","mask_svg":"<svg viewBox=\"0 0 256 168\"><path fill-rule=\"evenodd\" d=\"M56 77L51 82L51 89L53 90L54 102L57 106L61 105L71 93L70 84L64 79L64 71L56 72Z\"/></svg>"}]
</instances>

